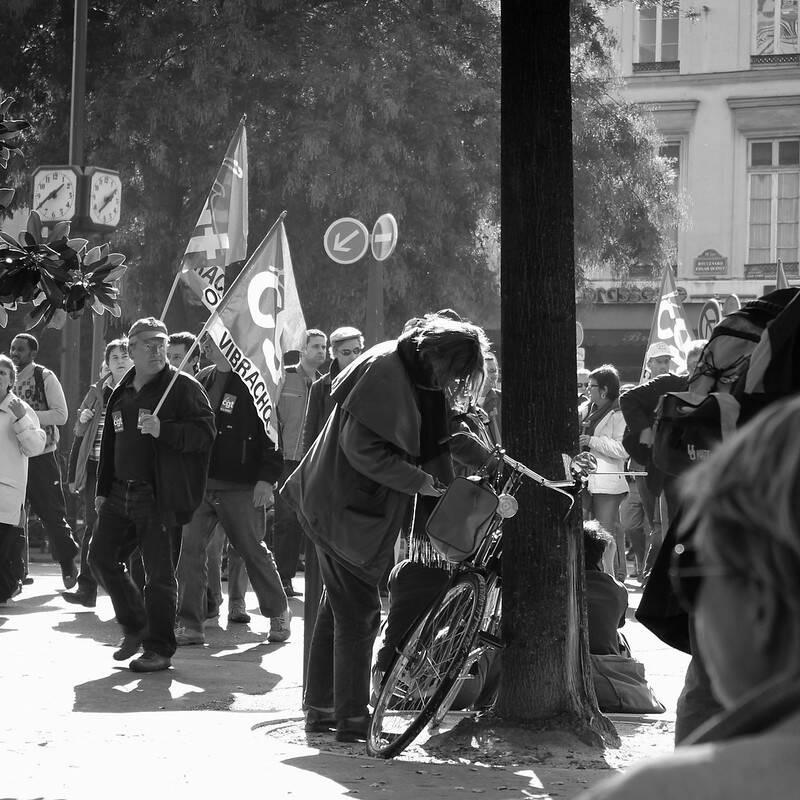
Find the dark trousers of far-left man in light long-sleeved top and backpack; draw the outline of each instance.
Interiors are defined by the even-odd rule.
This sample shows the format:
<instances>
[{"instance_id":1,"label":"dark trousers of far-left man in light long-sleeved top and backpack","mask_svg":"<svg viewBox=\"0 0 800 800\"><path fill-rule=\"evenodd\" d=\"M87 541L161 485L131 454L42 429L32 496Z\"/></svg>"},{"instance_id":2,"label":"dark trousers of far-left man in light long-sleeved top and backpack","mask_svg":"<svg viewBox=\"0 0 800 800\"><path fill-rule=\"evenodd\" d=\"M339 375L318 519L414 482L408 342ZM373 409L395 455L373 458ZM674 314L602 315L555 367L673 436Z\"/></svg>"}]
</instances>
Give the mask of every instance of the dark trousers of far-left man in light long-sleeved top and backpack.
<instances>
[{"instance_id":1,"label":"dark trousers of far-left man in light long-sleeved top and backpack","mask_svg":"<svg viewBox=\"0 0 800 800\"><path fill-rule=\"evenodd\" d=\"M54 452L28 459L27 500L47 532L53 561L62 566L69 565L79 547L67 522L61 469Z\"/></svg>"}]
</instances>

